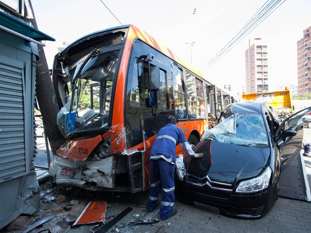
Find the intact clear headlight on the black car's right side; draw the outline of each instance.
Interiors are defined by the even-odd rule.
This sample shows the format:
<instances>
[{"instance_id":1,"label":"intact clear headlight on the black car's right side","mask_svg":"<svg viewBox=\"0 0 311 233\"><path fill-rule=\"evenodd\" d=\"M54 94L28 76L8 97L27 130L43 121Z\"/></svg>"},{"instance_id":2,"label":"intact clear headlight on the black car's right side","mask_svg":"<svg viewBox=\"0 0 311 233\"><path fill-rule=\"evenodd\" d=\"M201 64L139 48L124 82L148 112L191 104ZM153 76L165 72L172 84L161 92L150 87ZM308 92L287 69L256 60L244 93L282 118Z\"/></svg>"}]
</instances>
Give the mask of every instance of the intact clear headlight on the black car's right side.
<instances>
[{"instance_id":1,"label":"intact clear headlight on the black car's right side","mask_svg":"<svg viewBox=\"0 0 311 233\"><path fill-rule=\"evenodd\" d=\"M258 177L242 181L236 191L237 192L257 192L265 189L269 185L272 170L268 166L265 171Z\"/></svg>"}]
</instances>

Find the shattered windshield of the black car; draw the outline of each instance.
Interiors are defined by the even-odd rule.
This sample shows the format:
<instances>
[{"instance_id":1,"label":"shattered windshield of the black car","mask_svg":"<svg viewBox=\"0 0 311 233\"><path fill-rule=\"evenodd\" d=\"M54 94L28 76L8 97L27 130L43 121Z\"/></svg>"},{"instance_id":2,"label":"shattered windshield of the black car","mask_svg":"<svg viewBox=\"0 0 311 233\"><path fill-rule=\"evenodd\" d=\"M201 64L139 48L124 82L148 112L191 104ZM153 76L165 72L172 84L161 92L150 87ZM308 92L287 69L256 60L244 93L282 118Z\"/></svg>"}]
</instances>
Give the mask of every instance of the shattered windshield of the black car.
<instances>
[{"instance_id":1,"label":"shattered windshield of the black car","mask_svg":"<svg viewBox=\"0 0 311 233\"><path fill-rule=\"evenodd\" d=\"M268 145L268 136L260 114L234 113L214 128L204 132L201 141L214 141L244 146Z\"/></svg>"}]
</instances>

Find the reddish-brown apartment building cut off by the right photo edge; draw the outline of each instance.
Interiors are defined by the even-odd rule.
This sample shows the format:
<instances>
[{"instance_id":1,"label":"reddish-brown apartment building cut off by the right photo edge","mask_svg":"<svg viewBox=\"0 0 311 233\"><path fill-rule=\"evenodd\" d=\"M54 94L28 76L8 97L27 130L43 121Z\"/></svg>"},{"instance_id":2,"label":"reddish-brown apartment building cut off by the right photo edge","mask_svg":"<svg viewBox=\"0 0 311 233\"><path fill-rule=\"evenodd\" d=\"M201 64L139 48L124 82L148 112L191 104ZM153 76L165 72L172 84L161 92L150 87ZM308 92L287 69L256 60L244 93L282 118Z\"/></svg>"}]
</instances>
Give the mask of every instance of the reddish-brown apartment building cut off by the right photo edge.
<instances>
[{"instance_id":1,"label":"reddish-brown apartment building cut off by the right photo edge","mask_svg":"<svg viewBox=\"0 0 311 233\"><path fill-rule=\"evenodd\" d=\"M303 38L297 41L297 94L311 93L311 27L303 30Z\"/></svg>"}]
</instances>

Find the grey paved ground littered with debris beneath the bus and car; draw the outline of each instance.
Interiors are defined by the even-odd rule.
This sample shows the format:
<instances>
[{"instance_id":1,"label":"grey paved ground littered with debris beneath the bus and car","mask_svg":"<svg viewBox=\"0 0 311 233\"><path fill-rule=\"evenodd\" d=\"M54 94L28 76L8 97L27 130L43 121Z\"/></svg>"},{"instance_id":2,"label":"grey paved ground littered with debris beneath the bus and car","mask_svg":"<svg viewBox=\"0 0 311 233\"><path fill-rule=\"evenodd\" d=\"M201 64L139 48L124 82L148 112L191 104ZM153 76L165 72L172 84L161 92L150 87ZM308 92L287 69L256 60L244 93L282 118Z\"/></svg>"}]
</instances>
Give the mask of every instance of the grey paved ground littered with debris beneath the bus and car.
<instances>
[{"instance_id":1,"label":"grey paved ground littered with debris beneath the bus and car","mask_svg":"<svg viewBox=\"0 0 311 233\"><path fill-rule=\"evenodd\" d=\"M311 129L305 129L305 137L311 141ZM308 173L308 183L311 186L311 156L303 157L305 169ZM41 185L42 191L49 188L49 181ZM51 191L52 190L52 191ZM40 209L36 212L36 216L55 212L56 216L43 224L43 227L34 229L31 232L37 233L43 229L50 229L52 233L56 232L72 232L85 233L91 232L90 229L96 223L78 225L75 227L61 227L57 223L63 220L76 219L89 201L106 200L107 210L106 218L109 216L117 216L127 207L133 210L121 218L107 232L123 232L123 233L143 233L143 232L284 232L284 233L309 233L311 232L311 202L288 199L279 197L273 208L262 218L256 220L245 220L229 218L223 215L214 214L194 206L186 205L179 200L175 202L175 208L178 212L175 216L166 221L160 221L148 225L128 226L128 222L143 219L160 219L159 209L153 212L146 211L146 202L148 200L148 192L142 193L112 193L112 192L92 192L79 188L62 189L59 186L50 189L51 195L56 199L42 203ZM65 198L65 199L64 199ZM69 211L65 211L64 207L70 204L71 200L79 200L77 206ZM136 216L138 215L138 216ZM20 233L22 231L1 231L5 233Z\"/></svg>"}]
</instances>

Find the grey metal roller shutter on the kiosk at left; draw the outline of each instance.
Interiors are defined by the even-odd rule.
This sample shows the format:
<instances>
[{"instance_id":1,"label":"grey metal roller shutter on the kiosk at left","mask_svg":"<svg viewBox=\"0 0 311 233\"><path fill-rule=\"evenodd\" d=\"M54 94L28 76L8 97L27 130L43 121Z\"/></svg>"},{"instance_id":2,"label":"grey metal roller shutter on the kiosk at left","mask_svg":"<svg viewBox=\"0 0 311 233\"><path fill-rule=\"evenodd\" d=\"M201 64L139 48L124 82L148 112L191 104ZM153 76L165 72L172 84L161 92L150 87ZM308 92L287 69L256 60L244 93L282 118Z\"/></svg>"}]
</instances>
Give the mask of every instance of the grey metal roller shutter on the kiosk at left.
<instances>
[{"instance_id":1,"label":"grey metal roller shutter on the kiosk at left","mask_svg":"<svg viewBox=\"0 0 311 233\"><path fill-rule=\"evenodd\" d=\"M0 183L26 174L24 69L0 62Z\"/></svg>"}]
</instances>

